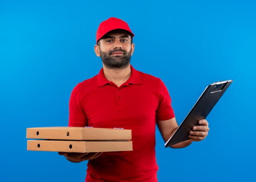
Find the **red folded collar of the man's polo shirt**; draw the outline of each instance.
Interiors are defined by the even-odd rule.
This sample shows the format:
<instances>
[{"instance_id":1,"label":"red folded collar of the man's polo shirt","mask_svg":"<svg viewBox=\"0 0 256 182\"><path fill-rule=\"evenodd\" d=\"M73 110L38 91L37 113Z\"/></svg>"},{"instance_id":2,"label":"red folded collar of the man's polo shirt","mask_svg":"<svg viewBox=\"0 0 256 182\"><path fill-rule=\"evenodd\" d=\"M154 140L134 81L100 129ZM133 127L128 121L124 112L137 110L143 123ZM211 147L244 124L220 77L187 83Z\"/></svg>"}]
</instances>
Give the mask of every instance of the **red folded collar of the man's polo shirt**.
<instances>
[{"instance_id":1,"label":"red folded collar of the man's polo shirt","mask_svg":"<svg viewBox=\"0 0 256 182\"><path fill-rule=\"evenodd\" d=\"M132 73L130 75L130 78L123 84L123 85L128 85L128 84L141 84L141 78L139 75L139 71L134 69L132 65L130 65ZM107 80L103 73L103 68L99 71L98 74L98 87L103 87L106 84L109 84L110 81Z\"/></svg>"}]
</instances>

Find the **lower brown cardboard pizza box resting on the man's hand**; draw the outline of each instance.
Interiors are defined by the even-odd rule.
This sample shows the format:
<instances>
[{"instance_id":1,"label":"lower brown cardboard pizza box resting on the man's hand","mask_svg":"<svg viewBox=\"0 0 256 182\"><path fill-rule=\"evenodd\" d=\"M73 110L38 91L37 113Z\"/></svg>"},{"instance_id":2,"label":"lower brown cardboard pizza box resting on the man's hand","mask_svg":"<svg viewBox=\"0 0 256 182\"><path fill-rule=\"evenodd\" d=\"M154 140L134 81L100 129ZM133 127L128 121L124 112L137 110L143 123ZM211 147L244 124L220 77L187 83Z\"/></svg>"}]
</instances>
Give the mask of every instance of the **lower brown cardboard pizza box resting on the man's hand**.
<instances>
[{"instance_id":1,"label":"lower brown cardboard pizza box resting on the man's hand","mask_svg":"<svg viewBox=\"0 0 256 182\"><path fill-rule=\"evenodd\" d=\"M27 150L78 153L132 151L132 141L27 140Z\"/></svg>"}]
</instances>

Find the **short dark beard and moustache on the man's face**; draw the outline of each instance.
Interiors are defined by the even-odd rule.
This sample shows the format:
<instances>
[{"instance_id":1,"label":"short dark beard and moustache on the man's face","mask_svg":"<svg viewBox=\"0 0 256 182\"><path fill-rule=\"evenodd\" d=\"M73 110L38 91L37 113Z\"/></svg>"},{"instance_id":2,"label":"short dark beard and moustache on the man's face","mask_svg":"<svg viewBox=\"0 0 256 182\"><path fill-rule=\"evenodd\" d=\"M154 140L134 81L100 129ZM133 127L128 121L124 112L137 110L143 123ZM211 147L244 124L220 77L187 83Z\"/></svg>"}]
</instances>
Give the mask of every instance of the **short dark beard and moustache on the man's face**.
<instances>
[{"instance_id":1,"label":"short dark beard and moustache on the man's face","mask_svg":"<svg viewBox=\"0 0 256 182\"><path fill-rule=\"evenodd\" d=\"M123 55L115 55L112 56L111 54L117 51L122 51ZM101 49L99 49L99 52L101 54L101 60L103 64L108 69L125 69L130 64L130 58L131 58L131 51L127 52L123 49L115 49L108 52L103 52Z\"/></svg>"}]
</instances>

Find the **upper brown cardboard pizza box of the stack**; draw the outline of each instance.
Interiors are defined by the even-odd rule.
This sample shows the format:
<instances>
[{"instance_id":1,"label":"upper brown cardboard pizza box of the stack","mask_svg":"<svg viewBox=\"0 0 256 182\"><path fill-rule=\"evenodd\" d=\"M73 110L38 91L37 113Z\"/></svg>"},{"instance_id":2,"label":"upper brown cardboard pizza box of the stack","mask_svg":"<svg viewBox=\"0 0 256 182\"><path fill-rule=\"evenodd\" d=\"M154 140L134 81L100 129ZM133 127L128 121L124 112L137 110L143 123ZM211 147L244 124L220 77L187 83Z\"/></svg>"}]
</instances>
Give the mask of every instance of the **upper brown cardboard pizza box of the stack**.
<instances>
[{"instance_id":1,"label":"upper brown cardboard pizza box of the stack","mask_svg":"<svg viewBox=\"0 0 256 182\"><path fill-rule=\"evenodd\" d=\"M130 129L90 127L36 127L27 128L27 138L52 140L131 140Z\"/></svg>"}]
</instances>

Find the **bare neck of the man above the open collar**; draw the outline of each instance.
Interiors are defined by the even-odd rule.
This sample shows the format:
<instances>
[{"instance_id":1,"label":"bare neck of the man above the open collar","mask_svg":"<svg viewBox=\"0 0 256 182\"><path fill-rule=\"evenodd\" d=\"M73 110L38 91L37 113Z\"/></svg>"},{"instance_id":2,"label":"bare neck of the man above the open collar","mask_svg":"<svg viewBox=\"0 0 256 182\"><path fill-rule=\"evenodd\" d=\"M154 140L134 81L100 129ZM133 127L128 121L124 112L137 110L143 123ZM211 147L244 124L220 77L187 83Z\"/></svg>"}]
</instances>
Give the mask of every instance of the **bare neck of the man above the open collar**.
<instances>
[{"instance_id":1,"label":"bare neck of the man above the open collar","mask_svg":"<svg viewBox=\"0 0 256 182\"><path fill-rule=\"evenodd\" d=\"M114 82L117 87L126 82L131 75L130 64L124 69L109 69L103 65L103 73L108 81Z\"/></svg>"}]
</instances>

